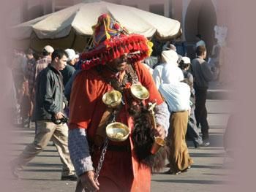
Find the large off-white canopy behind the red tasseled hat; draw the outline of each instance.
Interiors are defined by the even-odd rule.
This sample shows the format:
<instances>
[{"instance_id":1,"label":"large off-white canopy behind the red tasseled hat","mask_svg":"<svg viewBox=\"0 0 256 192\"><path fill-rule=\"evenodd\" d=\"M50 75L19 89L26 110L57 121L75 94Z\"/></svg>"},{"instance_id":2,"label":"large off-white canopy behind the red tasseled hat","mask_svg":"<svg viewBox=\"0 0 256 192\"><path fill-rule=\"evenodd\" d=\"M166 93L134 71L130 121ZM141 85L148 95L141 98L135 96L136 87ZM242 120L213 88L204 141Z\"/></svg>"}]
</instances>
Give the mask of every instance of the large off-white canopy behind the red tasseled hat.
<instances>
[{"instance_id":1,"label":"large off-white canopy behind the red tasseled hat","mask_svg":"<svg viewBox=\"0 0 256 192\"><path fill-rule=\"evenodd\" d=\"M177 20L135 7L97 1L76 4L14 26L11 31L12 39L35 50L41 50L46 44L83 50L86 38L93 32L91 26L97 23L97 18L103 13L113 15L130 33L161 40L181 35L181 23Z\"/></svg>"}]
</instances>

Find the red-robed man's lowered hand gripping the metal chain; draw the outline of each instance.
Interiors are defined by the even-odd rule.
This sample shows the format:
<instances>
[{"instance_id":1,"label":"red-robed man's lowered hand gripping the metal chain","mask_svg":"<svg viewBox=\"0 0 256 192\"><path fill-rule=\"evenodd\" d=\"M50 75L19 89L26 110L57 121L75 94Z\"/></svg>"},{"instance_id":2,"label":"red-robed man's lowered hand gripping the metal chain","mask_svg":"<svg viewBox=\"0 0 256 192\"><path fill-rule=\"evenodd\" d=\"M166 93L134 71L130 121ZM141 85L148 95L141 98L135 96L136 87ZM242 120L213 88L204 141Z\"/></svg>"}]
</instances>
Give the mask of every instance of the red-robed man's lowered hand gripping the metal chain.
<instances>
[{"instance_id":1,"label":"red-robed man's lowered hand gripping the metal chain","mask_svg":"<svg viewBox=\"0 0 256 192\"><path fill-rule=\"evenodd\" d=\"M94 180L94 171L82 174L80 181L86 191L99 191L99 182L98 180Z\"/></svg>"}]
</instances>

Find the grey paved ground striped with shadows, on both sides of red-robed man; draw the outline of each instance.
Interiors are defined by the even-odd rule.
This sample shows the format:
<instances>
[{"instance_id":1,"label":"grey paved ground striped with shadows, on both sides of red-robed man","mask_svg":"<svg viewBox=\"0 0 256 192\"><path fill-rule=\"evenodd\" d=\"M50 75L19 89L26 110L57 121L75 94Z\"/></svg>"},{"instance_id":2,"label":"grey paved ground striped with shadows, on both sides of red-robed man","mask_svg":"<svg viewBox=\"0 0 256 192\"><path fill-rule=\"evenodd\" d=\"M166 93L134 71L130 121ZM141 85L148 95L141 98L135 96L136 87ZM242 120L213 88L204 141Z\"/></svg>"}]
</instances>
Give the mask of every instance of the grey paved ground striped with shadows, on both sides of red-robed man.
<instances>
[{"instance_id":1,"label":"grey paved ground striped with shadows, on both sides of red-robed man","mask_svg":"<svg viewBox=\"0 0 256 192\"><path fill-rule=\"evenodd\" d=\"M211 145L195 149L188 142L189 153L195 164L189 172L179 175L153 174L151 191L220 191L229 181L231 170L222 166L224 150L222 134L227 125L232 103L227 100L208 100L208 120L211 126ZM12 157L34 139L34 128L15 128L12 140ZM166 171L164 169L162 172ZM14 191L74 191L75 182L61 181L61 161L56 148L48 147L20 172L20 180L12 180ZM11 179L11 178L10 178Z\"/></svg>"}]
</instances>

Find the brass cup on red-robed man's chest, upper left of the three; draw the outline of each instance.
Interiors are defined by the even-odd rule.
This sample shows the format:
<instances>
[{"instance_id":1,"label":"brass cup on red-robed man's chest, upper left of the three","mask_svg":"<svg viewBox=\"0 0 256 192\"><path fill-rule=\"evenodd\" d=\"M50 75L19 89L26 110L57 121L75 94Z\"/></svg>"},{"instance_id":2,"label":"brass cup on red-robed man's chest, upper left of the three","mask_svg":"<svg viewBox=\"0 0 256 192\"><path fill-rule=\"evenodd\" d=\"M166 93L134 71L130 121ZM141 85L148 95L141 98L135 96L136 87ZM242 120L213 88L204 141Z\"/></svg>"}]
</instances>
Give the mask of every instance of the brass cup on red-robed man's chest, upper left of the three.
<instances>
[{"instance_id":1,"label":"brass cup on red-robed man's chest, upper left of the three","mask_svg":"<svg viewBox=\"0 0 256 192\"><path fill-rule=\"evenodd\" d=\"M116 108L121 103L121 93L119 91L113 90L108 91L102 96L102 101L110 108Z\"/></svg>"}]
</instances>

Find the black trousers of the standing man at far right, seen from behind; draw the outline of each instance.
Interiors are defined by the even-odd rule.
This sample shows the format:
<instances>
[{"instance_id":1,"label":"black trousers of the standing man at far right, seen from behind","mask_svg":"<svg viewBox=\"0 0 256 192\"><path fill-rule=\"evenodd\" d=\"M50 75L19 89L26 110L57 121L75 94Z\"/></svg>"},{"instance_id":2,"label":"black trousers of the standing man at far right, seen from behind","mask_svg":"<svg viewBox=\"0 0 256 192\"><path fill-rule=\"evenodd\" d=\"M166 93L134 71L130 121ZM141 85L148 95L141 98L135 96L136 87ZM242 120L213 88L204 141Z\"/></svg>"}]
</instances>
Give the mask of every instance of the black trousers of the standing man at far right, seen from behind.
<instances>
[{"instance_id":1,"label":"black trousers of the standing man at far right, seen from behind","mask_svg":"<svg viewBox=\"0 0 256 192\"><path fill-rule=\"evenodd\" d=\"M195 88L195 119L197 120L197 127L201 126L203 139L208 139L208 121L206 110L206 96L207 88Z\"/></svg>"}]
</instances>

